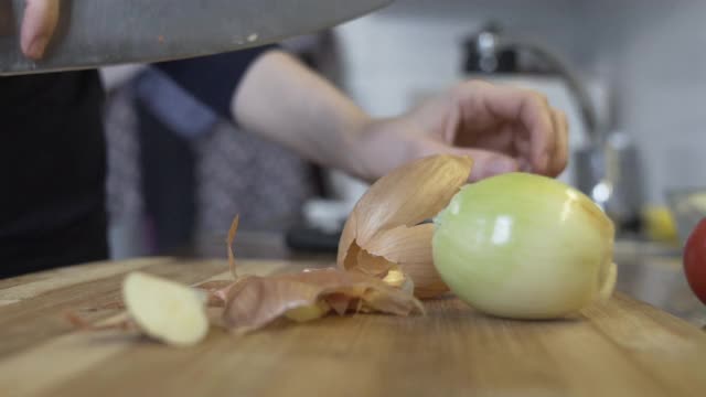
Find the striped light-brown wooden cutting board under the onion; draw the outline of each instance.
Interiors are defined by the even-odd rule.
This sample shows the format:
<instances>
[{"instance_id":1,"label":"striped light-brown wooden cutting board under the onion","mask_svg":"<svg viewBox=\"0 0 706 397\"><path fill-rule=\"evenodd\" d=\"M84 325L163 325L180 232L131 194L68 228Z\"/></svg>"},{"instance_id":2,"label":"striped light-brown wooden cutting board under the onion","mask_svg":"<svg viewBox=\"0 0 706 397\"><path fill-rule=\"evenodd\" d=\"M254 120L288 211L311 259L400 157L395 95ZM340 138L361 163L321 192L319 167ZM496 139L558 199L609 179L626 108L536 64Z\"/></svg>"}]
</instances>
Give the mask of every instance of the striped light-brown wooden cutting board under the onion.
<instances>
[{"instance_id":1,"label":"striped light-brown wooden cutting board under the onion","mask_svg":"<svg viewBox=\"0 0 706 397\"><path fill-rule=\"evenodd\" d=\"M212 330L188 348L78 332L62 316L118 315L106 304L130 270L195 283L226 268L141 259L0 280L0 396L706 396L706 333L620 294L573 320L501 320L446 298L427 302L426 316L331 316L238 337Z\"/></svg>"}]
</instances>

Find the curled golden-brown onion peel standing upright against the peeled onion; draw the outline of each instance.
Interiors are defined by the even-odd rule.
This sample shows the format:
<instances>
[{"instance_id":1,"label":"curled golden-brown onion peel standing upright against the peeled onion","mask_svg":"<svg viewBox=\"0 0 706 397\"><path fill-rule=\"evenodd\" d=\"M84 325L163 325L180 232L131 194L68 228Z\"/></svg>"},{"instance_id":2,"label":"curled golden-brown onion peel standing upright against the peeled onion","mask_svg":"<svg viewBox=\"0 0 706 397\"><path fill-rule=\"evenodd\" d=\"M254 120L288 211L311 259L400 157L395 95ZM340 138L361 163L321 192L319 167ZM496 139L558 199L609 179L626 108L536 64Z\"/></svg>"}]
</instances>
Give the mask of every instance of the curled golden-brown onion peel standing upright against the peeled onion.
<instances>
[{"instance_id":1,"label":"curled golden-brown onion peel standing upright against the peeled onion","mask_svg":"<svg viewBox=\"0 0 706 397\"><path fill-rule=\"evenodd\" d=\"M468 181L472 160L434 155L403 165L376 181L346 219L338 267L384 278L399 268L411 278L415 296L430 298L448 290L434 267L437 215Z\"/></svg>"}]
</instances>

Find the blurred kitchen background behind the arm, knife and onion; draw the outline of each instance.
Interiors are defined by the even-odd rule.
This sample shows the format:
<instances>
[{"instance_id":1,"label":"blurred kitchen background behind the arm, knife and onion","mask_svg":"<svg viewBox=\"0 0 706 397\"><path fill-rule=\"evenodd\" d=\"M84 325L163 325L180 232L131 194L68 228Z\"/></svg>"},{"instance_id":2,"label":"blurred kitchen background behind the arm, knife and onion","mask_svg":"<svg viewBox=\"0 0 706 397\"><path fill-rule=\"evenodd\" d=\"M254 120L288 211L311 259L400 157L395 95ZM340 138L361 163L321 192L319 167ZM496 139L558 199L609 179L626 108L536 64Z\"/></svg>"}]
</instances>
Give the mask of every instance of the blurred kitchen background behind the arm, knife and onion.
<instances>
[{"instance_id":1,"label":"blurred kitchen background behind the arm, knife and onion","mask_svg":"<svg viewBox=\"0 0 706 397\"><path fill-rule=\"evenodd\" d=\"M621 260L649 254L661 264L678 255L704 208L704 15L696 0L399 0L282 44L373 116L468 78L545 93L570 122L560 179L616 221ZM104 77L115 258L223 257L236 213L240 243L279 242L271 255L335 250L365 185L238 130L152 69L111 67ZM641 280L645 291L683 282L667 262L622 282ZM652 293L676 302L673 312L693 303Z\"/></svg>"}]
</instances>

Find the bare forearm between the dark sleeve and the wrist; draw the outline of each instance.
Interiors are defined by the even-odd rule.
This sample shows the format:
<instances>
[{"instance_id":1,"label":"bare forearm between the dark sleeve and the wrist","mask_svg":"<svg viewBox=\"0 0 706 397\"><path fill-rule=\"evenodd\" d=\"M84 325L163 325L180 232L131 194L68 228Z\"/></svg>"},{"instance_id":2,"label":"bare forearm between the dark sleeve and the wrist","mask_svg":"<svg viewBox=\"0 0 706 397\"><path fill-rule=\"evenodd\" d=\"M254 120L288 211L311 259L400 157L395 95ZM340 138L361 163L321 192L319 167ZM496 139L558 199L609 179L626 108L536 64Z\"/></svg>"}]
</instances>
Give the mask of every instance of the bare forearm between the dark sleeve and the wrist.
<instances>
[{"instance_id":1,"label":"bare forearm between the dark sleeve and the wrist","mask_svg":"<svg viewBox=\"0 0 706 397\"><path fill-rule=\"evenodd\" d=\"M340 90L279 51L248 69L232 103L239 125L325 167L361 175L352 150L368 116Z\"/></svg>"}]
</instances>

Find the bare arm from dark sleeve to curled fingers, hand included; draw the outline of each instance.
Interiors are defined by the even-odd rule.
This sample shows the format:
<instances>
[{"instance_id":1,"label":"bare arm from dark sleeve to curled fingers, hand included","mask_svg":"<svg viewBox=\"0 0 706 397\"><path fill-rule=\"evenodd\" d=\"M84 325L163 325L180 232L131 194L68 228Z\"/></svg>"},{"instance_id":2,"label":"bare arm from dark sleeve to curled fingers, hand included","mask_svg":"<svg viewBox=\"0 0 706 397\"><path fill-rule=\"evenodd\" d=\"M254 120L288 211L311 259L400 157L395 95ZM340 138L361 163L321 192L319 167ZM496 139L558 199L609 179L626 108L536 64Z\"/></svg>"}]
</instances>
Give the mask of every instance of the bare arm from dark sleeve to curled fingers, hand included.
<instances>
[{"instance_id":1,"label":"bare arm from dark sleeve to curled fingers, hand included","mask_svg":"<svg viewBox=\"0 0 706 397\"><path fill-rule=\"evenodd\" d=\"M232 108L246 130L365 180L434 153L472 157L472 180L516 170L555 176L566 165L564 115L534 92L483 82L371 119L295 57L272 51L249 67Z\"/></svg>"}]
</instances>

